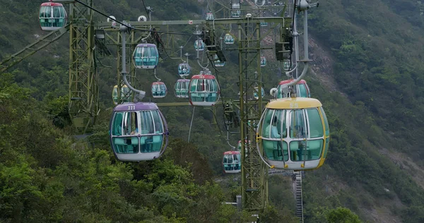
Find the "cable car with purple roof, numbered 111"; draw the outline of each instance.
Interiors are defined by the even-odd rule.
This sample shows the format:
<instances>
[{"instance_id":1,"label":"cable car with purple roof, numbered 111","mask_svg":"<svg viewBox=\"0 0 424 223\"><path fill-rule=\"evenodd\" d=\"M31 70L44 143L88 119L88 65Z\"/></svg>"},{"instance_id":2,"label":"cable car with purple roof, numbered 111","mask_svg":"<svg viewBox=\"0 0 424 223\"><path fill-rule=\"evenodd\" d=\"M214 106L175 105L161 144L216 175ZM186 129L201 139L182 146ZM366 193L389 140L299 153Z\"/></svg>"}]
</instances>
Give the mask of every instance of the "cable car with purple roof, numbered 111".
<instances>
[{"instance_id":1,"label":"cable car with purple roof, numbered 111","mask_svg":"<svg viewBox=\"0 0 424 223\"><path fill-rule=\"evenodd\" d=\"M157 159L167 147L165 117L151 102L118 104L110 121L110 144L121 161Z\"/></svg>"}]
</instances>

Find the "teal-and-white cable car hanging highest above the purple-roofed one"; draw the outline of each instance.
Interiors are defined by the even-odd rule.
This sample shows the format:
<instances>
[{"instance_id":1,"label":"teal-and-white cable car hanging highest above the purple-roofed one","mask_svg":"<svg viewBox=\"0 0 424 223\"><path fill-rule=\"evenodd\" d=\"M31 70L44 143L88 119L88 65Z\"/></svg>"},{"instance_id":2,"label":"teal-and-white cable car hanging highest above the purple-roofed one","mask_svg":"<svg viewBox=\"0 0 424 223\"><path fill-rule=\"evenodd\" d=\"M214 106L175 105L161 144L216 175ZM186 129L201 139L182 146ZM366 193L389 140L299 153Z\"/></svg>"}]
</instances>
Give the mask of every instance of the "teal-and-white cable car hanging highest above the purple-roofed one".
<instances>
[{"instance_id":1,"label":"teal-and-white cable car hanging highest above the purple-roofed one","mask_svg":"<svg viewBox=\"0 0 424 223\"><path fill-rule=\"evenodd\" d=\"M154 69L159 61L158 47L150 43L138 44L133 58L136 68Z\"/></svg>"}]
</instances>

